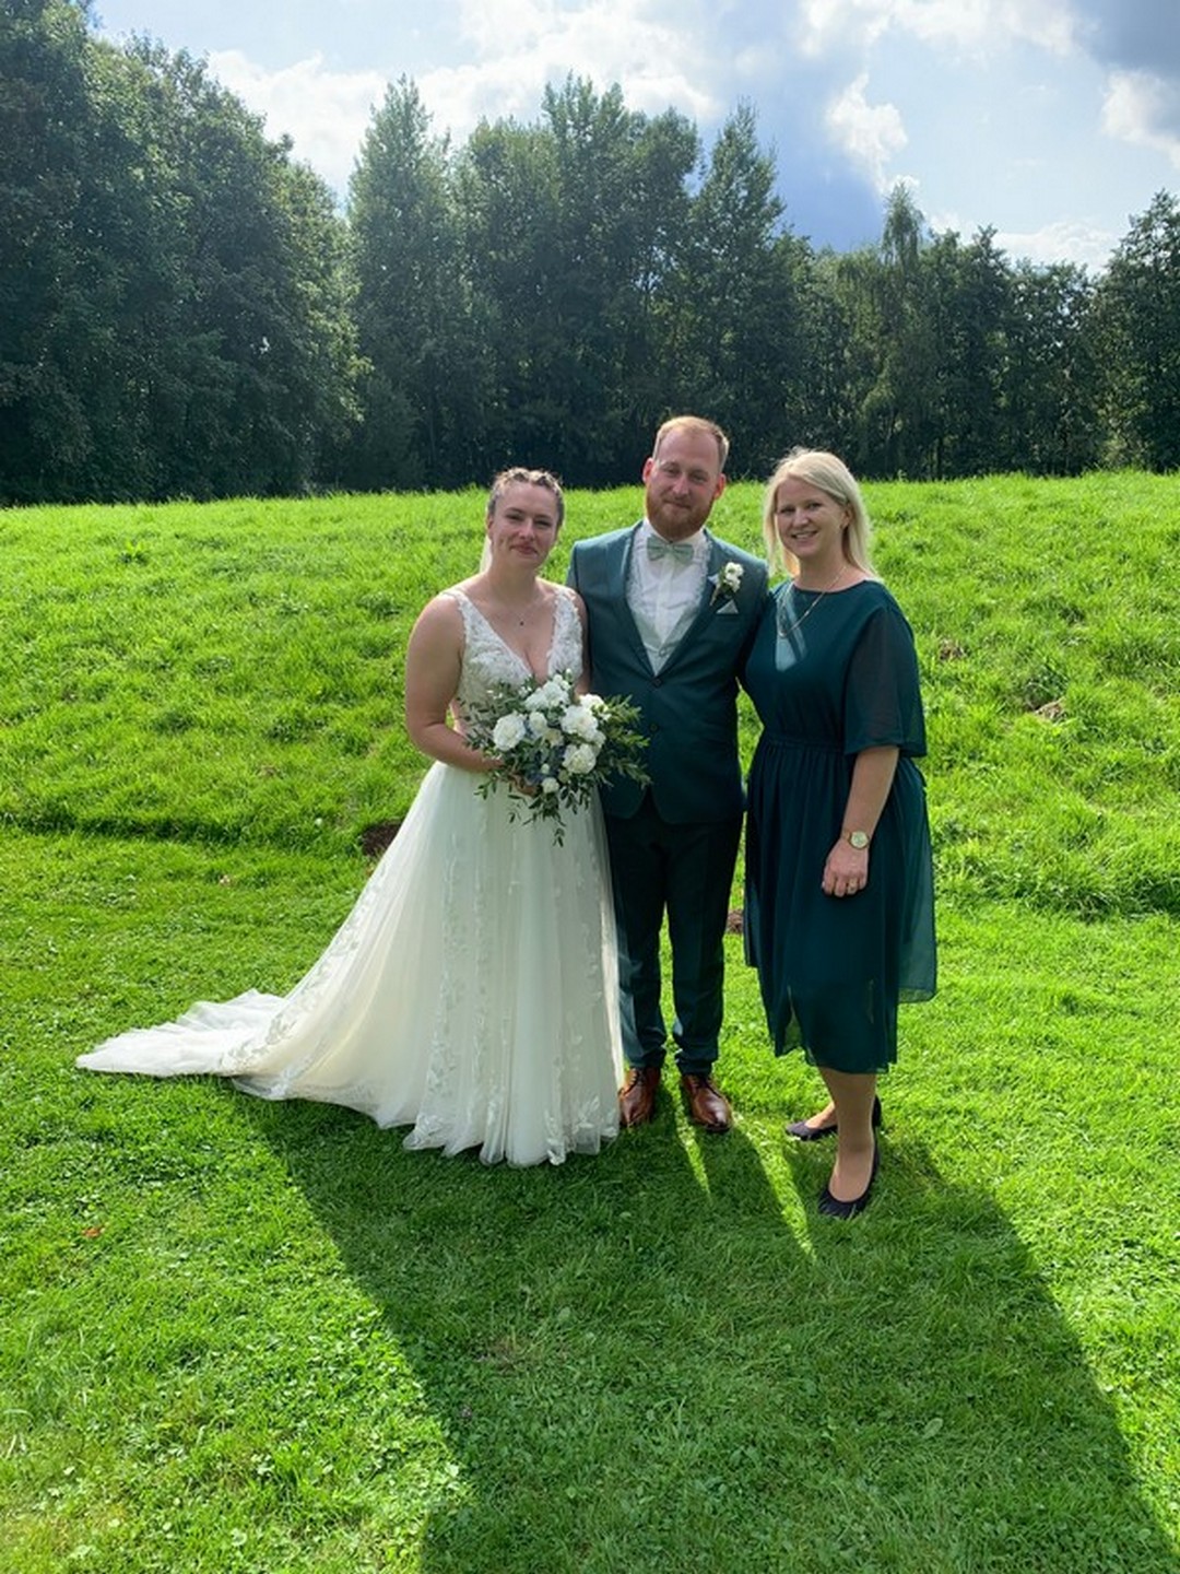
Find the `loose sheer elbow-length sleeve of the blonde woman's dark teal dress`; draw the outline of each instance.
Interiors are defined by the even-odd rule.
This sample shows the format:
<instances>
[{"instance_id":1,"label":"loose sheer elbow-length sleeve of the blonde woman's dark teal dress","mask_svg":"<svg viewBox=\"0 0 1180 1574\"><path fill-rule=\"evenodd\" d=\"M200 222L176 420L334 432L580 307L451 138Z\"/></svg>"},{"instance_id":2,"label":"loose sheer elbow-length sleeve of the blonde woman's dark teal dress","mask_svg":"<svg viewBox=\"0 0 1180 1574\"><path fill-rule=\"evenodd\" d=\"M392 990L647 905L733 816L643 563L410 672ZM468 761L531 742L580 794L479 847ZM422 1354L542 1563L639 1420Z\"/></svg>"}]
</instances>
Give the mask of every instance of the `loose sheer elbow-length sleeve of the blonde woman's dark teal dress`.
<instances>
[{"instance_id":1,"label":"loose sheer elbow-length sleeve of the blonde woman's dark teal dress","mask_svg":"<svg viewBox=\"0 0 1180 1574\"><path fill-rule=\"evenodd\" d=\"M892 598L873 609L853 647L843 737L846 754L889 745L902 754L927 752L914 634Z\"/></svg>"}]
</instances>

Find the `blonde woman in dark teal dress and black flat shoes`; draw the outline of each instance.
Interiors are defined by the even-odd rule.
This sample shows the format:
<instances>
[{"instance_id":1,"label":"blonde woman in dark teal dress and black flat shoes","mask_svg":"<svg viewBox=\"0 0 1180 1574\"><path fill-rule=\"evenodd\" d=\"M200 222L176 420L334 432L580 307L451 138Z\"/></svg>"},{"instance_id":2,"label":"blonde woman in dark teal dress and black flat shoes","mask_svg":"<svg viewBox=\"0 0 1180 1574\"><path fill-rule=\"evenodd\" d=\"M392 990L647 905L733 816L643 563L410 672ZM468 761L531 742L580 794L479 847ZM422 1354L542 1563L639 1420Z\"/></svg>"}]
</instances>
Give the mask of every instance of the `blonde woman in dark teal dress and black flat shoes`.
<instances>
[{"instance_id":1,"label":"blonde woman in dark teal dress and black flat shoes","mask_svg":"<svg viewBox=\"0 0 1180 1574\"><path fill-rule=\"evenodd\" d=\"M763 732L749 778L746 957L776 1053L796 1045L828 1103L788 1132L835 1133L820 1212L851 1218L876 1177L878 1073L898 1001L935 993L935 903L914 637L868 556L846 466L796 449L766 488L763 534L791 578L746 664Z\"/></svg>"}]
</instances>

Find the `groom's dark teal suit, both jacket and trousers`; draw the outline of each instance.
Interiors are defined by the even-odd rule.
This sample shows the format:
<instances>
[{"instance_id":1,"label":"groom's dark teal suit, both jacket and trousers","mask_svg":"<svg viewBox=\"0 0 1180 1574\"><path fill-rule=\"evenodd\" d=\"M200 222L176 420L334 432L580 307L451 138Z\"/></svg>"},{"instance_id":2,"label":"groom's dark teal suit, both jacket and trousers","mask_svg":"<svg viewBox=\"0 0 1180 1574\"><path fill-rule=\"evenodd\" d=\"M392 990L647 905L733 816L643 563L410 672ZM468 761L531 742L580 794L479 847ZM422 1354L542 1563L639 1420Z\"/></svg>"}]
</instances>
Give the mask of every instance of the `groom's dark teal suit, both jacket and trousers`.
<instances>
[{"instance_id":1,"label":"groom's dark teal suit, both jacket and trousers","mask_svg":"<svg viewBox=\"0 0 1180 1574\"><path fill-rule=\"evenodd\" d=\"M741 836L736 672L765 600L766 565L705 532L710 557L695 617L655 672L626 601L639 526L574 543L568 582L585 601L598 694L626 694L647 735L651 784L603 789L618 927L623 1048L632 1066L659 1066L659 938L672 943L672 1037L681 1072L708 1073L722 1018L724 935ZM741 567L730 597L727 563Z\"/></svg>"}]
</instances>

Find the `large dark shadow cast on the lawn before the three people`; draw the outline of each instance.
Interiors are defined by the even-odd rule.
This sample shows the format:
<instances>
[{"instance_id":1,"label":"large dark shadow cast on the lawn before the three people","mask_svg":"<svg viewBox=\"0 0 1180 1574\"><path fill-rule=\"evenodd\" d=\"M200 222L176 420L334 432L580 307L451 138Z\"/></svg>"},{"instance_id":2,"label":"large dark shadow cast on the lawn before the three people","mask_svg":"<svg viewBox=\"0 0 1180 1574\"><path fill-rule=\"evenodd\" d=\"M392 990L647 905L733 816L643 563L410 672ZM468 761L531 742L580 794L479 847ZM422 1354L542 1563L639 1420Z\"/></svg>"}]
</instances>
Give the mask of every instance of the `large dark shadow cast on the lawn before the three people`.
<instances>
[{"instance_id":1,"label":"large dark shadow cast on the lawn before the three people","mask_svg":"<svg viewBox=\"0 0 1180 1574\"><path fill-rule=\"evenodd\" d=\"M842 1223L769 1122L664 1103L511 1171L249 1103L445 1439L415 1569L1180 1569L1012 1225L919 1146Z\"/></svg>"}]
</instances>

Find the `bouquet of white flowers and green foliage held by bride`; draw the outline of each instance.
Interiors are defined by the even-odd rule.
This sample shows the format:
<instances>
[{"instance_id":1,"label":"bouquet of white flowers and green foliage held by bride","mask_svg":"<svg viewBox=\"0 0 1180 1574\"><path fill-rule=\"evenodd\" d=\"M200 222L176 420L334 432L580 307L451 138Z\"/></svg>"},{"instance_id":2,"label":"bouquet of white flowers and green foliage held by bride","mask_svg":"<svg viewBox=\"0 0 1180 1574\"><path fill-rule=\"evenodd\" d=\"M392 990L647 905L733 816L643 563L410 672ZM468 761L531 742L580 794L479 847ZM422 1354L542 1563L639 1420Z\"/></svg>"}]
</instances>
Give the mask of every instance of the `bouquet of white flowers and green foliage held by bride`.
<instances>
[{"instance_id":1,"label":"bouquet of white flowers and green foliage held by bride","mask_svg":"<svg viewBox=\"0 0 1180 1574\"><path fill-rule=\"evenodd\" d=\"M565 809L590 803L609 776L645 782L639 763L647 738L636 730L639 711L623 699L576 694L565 672L519 688L497 685L485 707L464 715L467 743L499 760L480 781L489 793L508 789L510 818L552 820L554 841L565 834Z\"/></svg>"}]
</instances>

